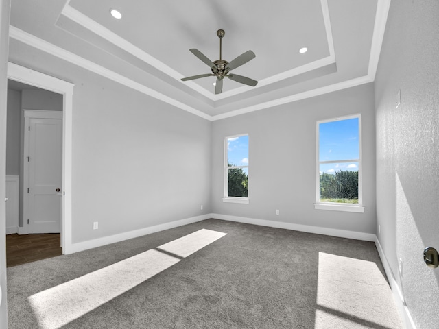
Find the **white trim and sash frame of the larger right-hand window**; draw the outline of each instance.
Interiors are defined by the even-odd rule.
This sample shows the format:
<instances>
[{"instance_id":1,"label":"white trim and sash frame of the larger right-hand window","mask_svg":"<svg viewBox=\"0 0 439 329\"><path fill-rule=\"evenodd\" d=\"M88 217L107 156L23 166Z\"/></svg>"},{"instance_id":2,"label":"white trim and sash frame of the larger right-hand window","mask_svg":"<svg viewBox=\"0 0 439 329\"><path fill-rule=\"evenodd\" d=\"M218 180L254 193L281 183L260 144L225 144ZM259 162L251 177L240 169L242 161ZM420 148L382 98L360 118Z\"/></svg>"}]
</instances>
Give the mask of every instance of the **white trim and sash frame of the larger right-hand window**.
<instances>
[{"instance_id":1,"label":"white trim and sash frame of the larger right-hand window","mask_svg":"<svg viewBox=\"0 0 439 329\"><path fill-rule=\"evenodd\" d=\"M352 160L333 160L333 161L319 161L320 156L320 139L319 139L319 125L320 123L327 123L332 121L341 121L347 119L358 118L358 138L359 138L359 159ZM316 123L316 203L314 209L316 210L335 210L346 212L364 212L363 206L363 167L362 167L362 134L361 134L361 114L353 114L344 117L335 117L332 119L325 119L317 121ZM337 204L335 202L320 202L320 163L331 162L358 162L358 204Z\"/></svg>"}]
</instances>

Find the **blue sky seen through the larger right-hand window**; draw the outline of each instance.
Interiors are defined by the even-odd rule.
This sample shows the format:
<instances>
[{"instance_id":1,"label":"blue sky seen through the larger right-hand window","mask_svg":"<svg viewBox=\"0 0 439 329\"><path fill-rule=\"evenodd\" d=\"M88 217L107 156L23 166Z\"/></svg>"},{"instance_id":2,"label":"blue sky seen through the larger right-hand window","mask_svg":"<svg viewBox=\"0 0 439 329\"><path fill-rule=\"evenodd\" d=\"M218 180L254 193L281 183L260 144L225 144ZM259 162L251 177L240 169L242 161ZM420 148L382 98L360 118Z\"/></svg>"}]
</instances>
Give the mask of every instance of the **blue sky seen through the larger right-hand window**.
<instances>
[{"instance_id":1,"label":"blue sky seen through the larger right-hand window","mask_svg":"<svg viewBox=\"0 0 439 329\"><path fill-rule=\"evenodd\" d=\"M359 118L319 124L319 161L359 159ZM358 162L320 164L321 173L358 171Z\"/></svg>"}]
</instances>

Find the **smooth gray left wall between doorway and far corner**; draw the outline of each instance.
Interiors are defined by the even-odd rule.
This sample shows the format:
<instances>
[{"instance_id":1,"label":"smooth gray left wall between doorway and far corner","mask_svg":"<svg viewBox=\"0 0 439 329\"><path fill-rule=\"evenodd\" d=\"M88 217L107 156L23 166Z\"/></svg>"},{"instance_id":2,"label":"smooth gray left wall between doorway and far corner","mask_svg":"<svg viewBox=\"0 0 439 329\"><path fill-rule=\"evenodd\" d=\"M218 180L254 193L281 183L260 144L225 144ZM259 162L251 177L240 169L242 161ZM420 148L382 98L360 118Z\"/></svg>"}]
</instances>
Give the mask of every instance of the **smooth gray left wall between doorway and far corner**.
<instances>
[{"instance_id":1,"label":"smooth gray left wall between doorway and far corner","mask_svg":"<svg viewBox=\"0 0 439 329\"><path fill-rule=\"evenodd\" d=\"M10 61L75 84L73 243L211 212L210 121L16 40Z\"/></svg>"}]
</instances>

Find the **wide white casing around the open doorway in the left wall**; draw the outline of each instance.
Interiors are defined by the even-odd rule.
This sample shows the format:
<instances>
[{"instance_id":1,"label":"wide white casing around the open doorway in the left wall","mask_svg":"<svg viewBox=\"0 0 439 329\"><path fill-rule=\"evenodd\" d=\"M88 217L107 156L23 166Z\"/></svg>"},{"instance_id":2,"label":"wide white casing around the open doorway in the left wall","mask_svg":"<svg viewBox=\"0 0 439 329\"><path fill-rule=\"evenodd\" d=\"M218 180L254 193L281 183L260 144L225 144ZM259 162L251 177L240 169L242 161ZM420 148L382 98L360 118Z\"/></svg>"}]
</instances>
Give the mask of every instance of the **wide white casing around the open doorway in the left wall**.
<instances>
[{"instance_id":1,"label":"wide white casing around the open doorway in the left wall","mask_svg":"<svg viewBox=\"0 0 439 329\"><path fill-rule=\"evenodd\" d=\"M61 205L61 247L62 254L71 254L72 248L72 112L73 87L71 82L51 75L27 69L8 62L8 79L29 84L61 94L62 97L62 205ZM24 221L23 217L23 221ZM24 224L24 223L23 223Z\"/></svg>"}]
</instances>

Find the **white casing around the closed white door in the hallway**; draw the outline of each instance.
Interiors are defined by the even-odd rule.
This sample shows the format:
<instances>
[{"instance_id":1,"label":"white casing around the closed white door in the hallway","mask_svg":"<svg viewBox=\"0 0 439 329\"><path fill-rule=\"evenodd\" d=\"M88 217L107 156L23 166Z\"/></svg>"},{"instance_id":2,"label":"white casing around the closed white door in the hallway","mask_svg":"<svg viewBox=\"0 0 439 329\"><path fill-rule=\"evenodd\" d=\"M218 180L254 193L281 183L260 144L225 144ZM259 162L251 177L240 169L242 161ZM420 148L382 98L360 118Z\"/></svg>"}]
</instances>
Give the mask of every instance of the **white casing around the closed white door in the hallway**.
<instances>
[{"instance_id":1,"label":"white casing around the closed white door in the hallway","mask_svg":"<svg viewBox=\"0 0 439 329\"><path fill-rule=\"evenodd\" d=\"M29 130L26 129L30 125L31 119L62 119L64 117L62 111L47 111L47 110L25 110L23 109L25 117L25 131L24 131L24 156L23 156L23 227L19 227L19 234L29 234L29 194L26 193L29 188L29 162L26 160L29 154ZM64 147L64 145L62 145ZM64 191L63 188L61 188ZM64 192L63 192L64 193ZM61 231L62 220L60 219ZM61 238L62 245L62 238Z\"/></svg>"}]
</instances>

